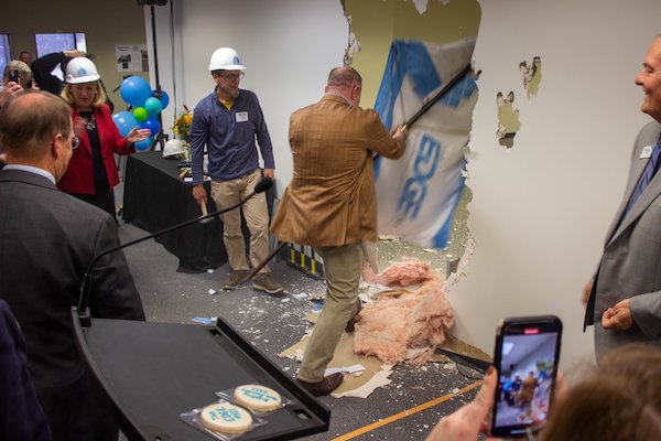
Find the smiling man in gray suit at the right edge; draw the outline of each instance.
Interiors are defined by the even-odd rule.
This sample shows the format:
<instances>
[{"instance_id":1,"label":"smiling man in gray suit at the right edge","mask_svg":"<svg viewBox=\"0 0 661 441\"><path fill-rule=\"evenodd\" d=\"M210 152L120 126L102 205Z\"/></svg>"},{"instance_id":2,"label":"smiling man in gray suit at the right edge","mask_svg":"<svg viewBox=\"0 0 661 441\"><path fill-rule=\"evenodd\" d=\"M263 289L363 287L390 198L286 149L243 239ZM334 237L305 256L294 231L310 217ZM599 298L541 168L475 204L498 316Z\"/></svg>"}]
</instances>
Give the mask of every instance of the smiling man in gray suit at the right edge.
<instances>
[{"instance_id":1,"label":"smiling man in gray suit at the right edge","mask_svg":"<svg viewBox=\"0 0 661 441\"><path fill-rule=\"evenodd\" d=\"M654 119L638 133L622 203L593 281L583 290L585 325L595 325L600 356L629 342L661 346L661 35L636 77L640 109Z\"/></svg>"}]
</instances>

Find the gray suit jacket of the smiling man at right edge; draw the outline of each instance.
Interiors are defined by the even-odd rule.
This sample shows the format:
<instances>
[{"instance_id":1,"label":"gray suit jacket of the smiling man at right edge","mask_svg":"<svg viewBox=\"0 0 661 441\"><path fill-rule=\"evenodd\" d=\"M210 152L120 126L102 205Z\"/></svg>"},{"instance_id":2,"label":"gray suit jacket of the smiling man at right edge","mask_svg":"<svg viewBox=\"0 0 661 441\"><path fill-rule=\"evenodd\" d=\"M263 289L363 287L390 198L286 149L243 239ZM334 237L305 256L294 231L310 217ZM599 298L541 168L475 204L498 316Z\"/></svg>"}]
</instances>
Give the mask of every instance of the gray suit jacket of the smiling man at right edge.
<instances>
[{"instance_id":1,"label":"gray suit jacket of the smiling man at right edge","mask_svg":"<svg viewBox=\"0 0 661 441\"><path fill-rule=\"evenodd\" d=\"M597 282L586 311L586 323L595 324L595 348L600 355L629 342L661 346L661 172L622 218L647 163L644 147L653 146L661 123L646 125L631 152L631 169L625 197L606 235ZM620 222L621 218L621 222ZM604 311L624 299L631 299L633 327L607 331L602 326Z\"/></svg>"}]
</instances>

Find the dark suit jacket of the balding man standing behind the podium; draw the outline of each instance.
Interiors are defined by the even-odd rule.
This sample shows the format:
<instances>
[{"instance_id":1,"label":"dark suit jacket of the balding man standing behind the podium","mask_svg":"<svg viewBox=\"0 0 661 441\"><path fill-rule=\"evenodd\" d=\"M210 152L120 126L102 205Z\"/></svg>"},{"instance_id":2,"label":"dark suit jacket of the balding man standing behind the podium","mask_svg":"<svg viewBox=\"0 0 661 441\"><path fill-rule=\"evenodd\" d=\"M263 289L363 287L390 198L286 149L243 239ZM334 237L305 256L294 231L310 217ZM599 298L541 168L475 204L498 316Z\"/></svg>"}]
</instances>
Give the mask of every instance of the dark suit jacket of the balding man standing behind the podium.
<instances>
[{"instance_id":1,"label":"dark suit jacket of the balding man standing behind the podium","mask_svg":"<svg viewBox=\"0 0 661 441\"><path fill-rule=\"evenodd\" d=\"M62 388L85 373L71 308L93 257L119 245L116 223L46 178L18 170L0 171L0 299L23 331L37 392ZM144 320L123 252L102 257L91 272L93 316Z\"/></svg>"}]
</instances>

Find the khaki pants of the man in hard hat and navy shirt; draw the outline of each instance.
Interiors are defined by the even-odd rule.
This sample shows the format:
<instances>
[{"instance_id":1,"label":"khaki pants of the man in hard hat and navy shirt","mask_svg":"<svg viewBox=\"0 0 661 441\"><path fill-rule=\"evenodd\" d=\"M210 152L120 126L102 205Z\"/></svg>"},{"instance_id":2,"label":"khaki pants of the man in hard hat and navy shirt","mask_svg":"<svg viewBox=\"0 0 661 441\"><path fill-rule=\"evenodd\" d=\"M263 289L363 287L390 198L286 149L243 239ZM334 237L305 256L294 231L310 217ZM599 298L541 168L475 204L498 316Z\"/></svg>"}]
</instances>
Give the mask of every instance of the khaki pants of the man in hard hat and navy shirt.
<instances>
[{"instance_id":1,"label":"khaki pants of the man in hard hat and navy shirt","mask_svg":"<svg viewBox=\"0 0 661 441\"><path fill-rule=\"evenodd\" d=\"M254 172L229 181L212 181L212 198L218 209L229 207L248 197L261 179L261 172ZM250 230L250 262L257 267L269 257L269 207L267 196L259 193L241 207L225 213L223 219L223 241L229 259L229 268L235 271L248 270L246 261L246 243L241 232L241 209ZM269 272L267 266L260 273Z\"/></svg>"}]
</instances>

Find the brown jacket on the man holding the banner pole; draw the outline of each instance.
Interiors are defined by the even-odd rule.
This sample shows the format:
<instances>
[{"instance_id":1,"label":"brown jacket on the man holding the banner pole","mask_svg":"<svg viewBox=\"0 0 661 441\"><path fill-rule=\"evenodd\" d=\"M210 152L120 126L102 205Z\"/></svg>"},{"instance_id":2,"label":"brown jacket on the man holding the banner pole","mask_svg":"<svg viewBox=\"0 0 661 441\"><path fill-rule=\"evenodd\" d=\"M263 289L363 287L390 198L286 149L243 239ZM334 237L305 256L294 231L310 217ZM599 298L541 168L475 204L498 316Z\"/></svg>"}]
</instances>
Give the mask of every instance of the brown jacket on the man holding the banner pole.
<instances>
[{"instance_id":1,"label":"brown jacket on the man holding the banner pole","mask_svg":"<svg viewBox=\"0 0 661 441\"><path fill-rule=\"evenodd\" d=\"M292 114L290 144L294 174L271 232L281 241L318 247L376 240L372 152L398 159L404 151L379 115L324 95Z\"/></svg>"}]
</instances>

